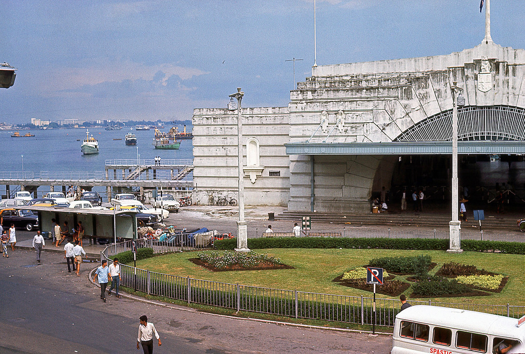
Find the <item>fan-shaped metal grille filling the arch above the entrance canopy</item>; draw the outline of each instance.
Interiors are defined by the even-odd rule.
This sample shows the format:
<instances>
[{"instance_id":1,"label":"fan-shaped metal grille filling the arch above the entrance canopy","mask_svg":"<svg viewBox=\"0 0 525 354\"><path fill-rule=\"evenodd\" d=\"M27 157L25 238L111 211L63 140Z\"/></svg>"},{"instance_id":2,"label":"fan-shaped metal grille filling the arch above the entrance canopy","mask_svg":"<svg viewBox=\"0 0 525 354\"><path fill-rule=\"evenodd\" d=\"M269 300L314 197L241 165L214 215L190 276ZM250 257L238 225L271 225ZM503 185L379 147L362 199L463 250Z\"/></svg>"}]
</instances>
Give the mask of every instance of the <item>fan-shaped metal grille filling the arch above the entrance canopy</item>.
<instances>
[{"instance_id":1,"label":"fan-shaped metal grille filling the arch above the entrance canopy","mask_svg":"<svg viewBox=\"0 0 525 354\"><path fill-rule=\"evenodd\" d=\"M452 110L429 117L394 141L450 141ZM525 109L511 106L467 106L458 109L458 140L525 140Z\"/></svg>"}]
</instances>

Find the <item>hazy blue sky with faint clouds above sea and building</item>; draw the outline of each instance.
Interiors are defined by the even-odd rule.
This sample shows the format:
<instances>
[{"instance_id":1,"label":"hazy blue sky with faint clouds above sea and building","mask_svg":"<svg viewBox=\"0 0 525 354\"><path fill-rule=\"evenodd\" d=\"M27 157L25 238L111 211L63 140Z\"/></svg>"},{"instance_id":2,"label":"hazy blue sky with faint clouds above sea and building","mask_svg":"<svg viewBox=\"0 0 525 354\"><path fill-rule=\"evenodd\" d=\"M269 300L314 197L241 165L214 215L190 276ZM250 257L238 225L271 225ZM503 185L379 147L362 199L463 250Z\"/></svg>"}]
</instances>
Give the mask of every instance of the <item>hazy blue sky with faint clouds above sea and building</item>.
<instances>
[{"instance_id":1,"label":"hazy blue sky with faint clouds above sea and building","mask_svg":"<svg viewBox=\"0 0 525 354\"><path fill-rule=\"evenodd\" d=\"M486 0L485 0L486 1ZM479 0L317 0L317 64L449 54L485 35ZM525 48L525 1L491 1L491 35ZM287 106L314 63L313 0L4 0L0 122L186 120Z\"/></svg>"}]
</instances>

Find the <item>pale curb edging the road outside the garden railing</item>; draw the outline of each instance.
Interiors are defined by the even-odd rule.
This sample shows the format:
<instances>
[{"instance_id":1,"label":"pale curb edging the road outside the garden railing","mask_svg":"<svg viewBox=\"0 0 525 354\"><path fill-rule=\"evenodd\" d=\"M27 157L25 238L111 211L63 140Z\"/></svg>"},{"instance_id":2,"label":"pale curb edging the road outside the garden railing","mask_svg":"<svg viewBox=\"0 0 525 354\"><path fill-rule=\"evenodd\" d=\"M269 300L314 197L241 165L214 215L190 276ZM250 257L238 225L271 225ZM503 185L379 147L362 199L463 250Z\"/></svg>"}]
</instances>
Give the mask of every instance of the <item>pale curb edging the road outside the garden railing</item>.
<instances>
[{"instance_id":1,"label":"pale curb edging the road outside the garden railing","mask_svg":"<svg viewBox=\"0 0 525 354\"><path fill-rule=\"evenodd\" d=\"M97 267L98 268L98 267ZM97 268L93 268L89 274L88 278L91 284L95 285L96 287L100 287L98 283L93 282L93 272L97 270ZM119 291L120 296L130 298L131 300L144 302L146 304L156 305L156 306L163 306L166 308L178 310L178 311L186 311L186 312L192 312L195 314L206 314L209 316L217 316L217 317L223 317L223 318L230 318L230 319L237 319L237 320L246 320L246 321L253 321L253 322L262 322L262 323L271 323L275 325L280 326L294 326L294 327L302 327L302 328L313 328L313 329L324 329L324 330L332 330L332 331L339 331L339 332L347 332L347 333L361 333L361 334L369 334L372 335L372 331L370 330L359 330L359 329L346 329L346 328L337 328L337 327L323 327L323 326L313 326L313 325L303 325L300 323L290 323L290 322L280 322L280 321L274 321L270 319L261 319L261 318L250 318L250 317L235 317L235 316L228 316L228 315L220 315L220 314L214 314L210 312L204 312L204 311L197 311L193 308L188 307L175 307L171 304L166 304L164 302L156 301L156 300L149 300L147 298L131 295L124 291ZM386 332L375 332L375 335L383 335L383 336L392 336L392 333L386 333Z\"/></svg>"}]
</instances>

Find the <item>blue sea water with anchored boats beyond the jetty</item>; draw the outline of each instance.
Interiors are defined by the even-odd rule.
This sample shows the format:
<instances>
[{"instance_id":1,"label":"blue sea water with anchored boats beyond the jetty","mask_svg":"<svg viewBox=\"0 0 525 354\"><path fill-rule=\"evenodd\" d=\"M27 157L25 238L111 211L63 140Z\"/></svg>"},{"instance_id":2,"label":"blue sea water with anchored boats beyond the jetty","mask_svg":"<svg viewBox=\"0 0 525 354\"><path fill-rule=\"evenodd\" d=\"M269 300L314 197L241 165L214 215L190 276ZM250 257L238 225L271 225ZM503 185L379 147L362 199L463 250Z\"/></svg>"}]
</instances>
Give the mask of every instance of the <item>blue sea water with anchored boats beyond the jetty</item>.
<instances>
[{"instance_id":1,"label":"blue sea water with anchored boats beyond the jetty","mask_svg":"<svg viewBox=\"0 0 525 354\"><path fill-rule=\"evenodd\" d=\"M153 146L155 131L139 130L132 132L137 136L137 145L125 145L125 135L129 128L105 130L88 128L89 135L99 142L99 153L84 155L80 150L82 140L86 139L86 128L20 130L20 135L30 131L35 137L13 138L16 130L0 131L0 173L2 172L88 172L104 171L106 160L115 159L154 159L162 160L193 159L191 139L182 140L178 150L160 150ZM191 127L190 127L191 131ZM114 140L121 139L121 140ZM14 186L12 186L13 189ZM93 190L105 192L105 188ZM38 189L38 196L49 191L48 186ZM5 186L0 186L0 194L5 194Z\"/></svg>"}]
</instances>

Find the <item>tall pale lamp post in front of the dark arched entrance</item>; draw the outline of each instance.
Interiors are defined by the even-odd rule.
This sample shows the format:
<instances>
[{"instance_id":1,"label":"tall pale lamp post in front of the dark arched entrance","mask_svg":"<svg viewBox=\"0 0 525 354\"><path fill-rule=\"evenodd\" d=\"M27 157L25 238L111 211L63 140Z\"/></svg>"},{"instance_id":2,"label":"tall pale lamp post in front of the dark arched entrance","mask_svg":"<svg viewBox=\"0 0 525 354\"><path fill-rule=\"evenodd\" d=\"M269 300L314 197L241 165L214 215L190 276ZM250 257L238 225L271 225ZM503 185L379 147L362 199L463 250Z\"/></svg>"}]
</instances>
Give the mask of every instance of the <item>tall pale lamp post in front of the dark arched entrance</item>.
<instances>
[{"instance_id":1,"label":"tall pale lamp post in front of the dark arched entrance","mask_svg":"<svg viewBox=\"0 0 525 354\"><path fill-rule=\"evenodd\" d=\"M465 105L465 97L461 95L461 87L453 82L450 87L452 92L452 219L448 223L449 246L447 252L460 253L461 249L461 222L458 219L458 106Z\"/></svg>"}]
</instances>

